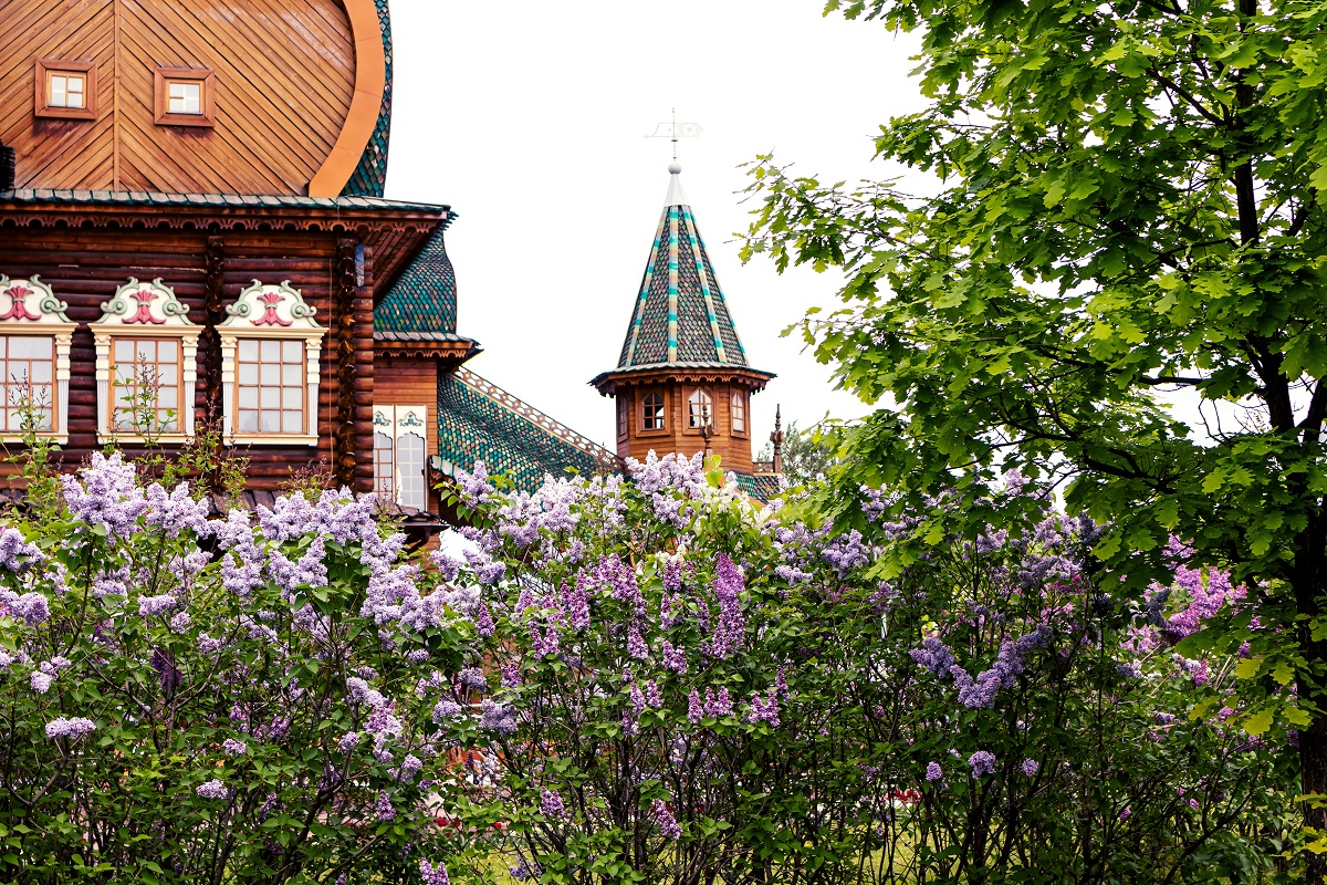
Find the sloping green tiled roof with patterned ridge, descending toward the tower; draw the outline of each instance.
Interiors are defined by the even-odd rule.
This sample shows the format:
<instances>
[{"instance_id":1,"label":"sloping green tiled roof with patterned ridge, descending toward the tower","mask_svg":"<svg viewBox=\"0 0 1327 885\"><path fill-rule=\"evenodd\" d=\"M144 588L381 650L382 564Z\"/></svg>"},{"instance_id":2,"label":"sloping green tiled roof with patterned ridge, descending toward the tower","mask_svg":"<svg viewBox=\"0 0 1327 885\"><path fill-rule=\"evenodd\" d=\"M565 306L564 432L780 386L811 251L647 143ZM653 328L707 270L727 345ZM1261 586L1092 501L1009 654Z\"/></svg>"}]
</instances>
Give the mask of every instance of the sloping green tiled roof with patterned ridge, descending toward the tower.
<instances>
[{"instance_id":1,"label":"sloping green tiled roof with patterned ridge, descending toward the tower","mask_svg":"<svg viewBox=\"0 0 1327 885\"><path fill-rule=\"evenodd\" d=\"M438 379L438 454L446 474L482 460L525 491L568 467L583 475L620 470L613 452L463 368Z\"/></svg>"}]
</instances>

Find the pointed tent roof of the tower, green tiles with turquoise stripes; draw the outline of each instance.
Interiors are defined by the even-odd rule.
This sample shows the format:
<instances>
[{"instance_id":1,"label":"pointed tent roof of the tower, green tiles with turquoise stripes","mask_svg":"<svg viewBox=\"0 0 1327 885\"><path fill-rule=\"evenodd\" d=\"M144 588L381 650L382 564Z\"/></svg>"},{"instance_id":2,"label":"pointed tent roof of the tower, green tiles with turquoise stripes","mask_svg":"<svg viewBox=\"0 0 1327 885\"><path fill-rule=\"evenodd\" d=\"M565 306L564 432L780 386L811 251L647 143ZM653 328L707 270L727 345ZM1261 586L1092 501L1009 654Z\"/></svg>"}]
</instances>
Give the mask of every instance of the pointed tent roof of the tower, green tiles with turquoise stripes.
<instances>
[{"instance_id":1,"label":"pointed tent roof of the tower, green tiles with turquoise stripes","mask_svg":"<svg viewBox=\"0 0 1327 885\"><path fill-rule=\"evenodd\" d=\"M682 167L674 162L669 172L666 206L617 370L747 368L742 340L682 191Z\"/></svg>"}]
</instances>

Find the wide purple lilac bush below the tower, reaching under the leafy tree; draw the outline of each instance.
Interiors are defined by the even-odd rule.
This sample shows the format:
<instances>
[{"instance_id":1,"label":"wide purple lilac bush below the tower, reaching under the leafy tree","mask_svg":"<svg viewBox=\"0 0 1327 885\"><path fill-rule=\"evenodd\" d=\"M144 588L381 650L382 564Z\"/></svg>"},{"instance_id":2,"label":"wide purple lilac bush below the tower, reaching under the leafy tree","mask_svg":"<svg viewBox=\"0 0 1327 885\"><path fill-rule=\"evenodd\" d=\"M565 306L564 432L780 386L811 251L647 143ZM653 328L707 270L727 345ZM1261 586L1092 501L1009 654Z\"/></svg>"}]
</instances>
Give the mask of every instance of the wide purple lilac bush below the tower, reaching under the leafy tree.
<instances>
[{"instance_id":1,"label":"wide purple lilac bush below the tower, reaching under the leafy tree","mask_svg":"<svg viewBox=\"0 0 1327 885\"><path fill-rule=\"evenodd\" d=\"M437 556L491 624L486 683L434 711L487 766L455 815L508 825L514 877L1278 874L1292 735L1227 722L1238 655L1177 650L1245 593L1181 547L1174 586L1129 606L1091 556L1100 528L1035 483L902 521L864 490L835 532L698 458L629 467L533 495L462 475L467 545ZM951 507L1020 517L949 536ZM492 860L451 872L488 881Z\"/></svg>"}]
</instances>

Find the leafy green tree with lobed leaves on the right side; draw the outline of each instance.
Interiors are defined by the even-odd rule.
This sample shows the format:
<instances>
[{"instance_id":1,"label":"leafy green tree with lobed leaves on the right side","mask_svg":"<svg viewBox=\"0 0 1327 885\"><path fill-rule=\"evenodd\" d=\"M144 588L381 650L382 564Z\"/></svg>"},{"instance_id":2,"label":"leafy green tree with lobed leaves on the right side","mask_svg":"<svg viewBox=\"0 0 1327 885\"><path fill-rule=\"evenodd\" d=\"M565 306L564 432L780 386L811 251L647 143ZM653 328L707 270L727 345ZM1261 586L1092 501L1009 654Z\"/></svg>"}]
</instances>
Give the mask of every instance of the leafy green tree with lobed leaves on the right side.
<instances>
[{"instance_id":1,"label":"leafy green tree with lobed leaves on the right side","mask_svg":"<svg viewBox=\"0 0 1327 885\"><path fill-rule=\"evenodd\" d=\"M835 9L922 32L930 105L876 149L938 186L751 169L746 255L843 267L847 309L803 334L848 389L898 403L855 430L821 510L860 519L861 482L908 510L1010 468L1052 476L1111 521L1095 553L1133 592L1182 536L1278 629L1254 640L1277 666L1241 682L1245 727L1302 728L1306 791L1327 792L1327 7Z\"/></svg>"}]
</instances>

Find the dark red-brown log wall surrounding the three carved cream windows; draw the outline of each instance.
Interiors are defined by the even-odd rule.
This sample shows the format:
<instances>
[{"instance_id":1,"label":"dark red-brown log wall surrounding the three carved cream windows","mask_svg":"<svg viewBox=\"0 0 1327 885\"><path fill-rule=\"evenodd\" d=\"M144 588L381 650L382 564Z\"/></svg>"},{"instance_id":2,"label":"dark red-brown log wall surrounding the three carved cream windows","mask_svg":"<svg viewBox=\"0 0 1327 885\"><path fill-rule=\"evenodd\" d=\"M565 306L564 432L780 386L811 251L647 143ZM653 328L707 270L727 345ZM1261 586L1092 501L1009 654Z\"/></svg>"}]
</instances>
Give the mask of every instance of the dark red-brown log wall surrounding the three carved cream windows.
<instances>
[{"instance_id":1,"label":"dark red-brown log wall surrounding the three carved cream windows","mask_svg":"<svg viewBox=\"0 0 1327 885\"><path fill-rule=\"evenodd\" d=\"M275 490L289 479L295 468L317 464L320 459L332 462L338 383L329 314L337 239L329 232L228 232L224 236L224 304L232 303L240 289L255 279L263 283L289 280L317 310L314 320L329 329L320 361L318 444L244 447L242 454L251 459L251 488ZM40 275L57 297L69 303L69 318L82 324L74 332L70 349L69 443L64 446L66 464L77 464L101 447L97 441L97 357L88 324L100 318L100 305L130 276L139 280L162 277L188 305L190 320L204 324L206 243L207 234L203 231L74 228L61 230L57 236L41 228L5 227L0 231L0 273L11 279ZM354 488L368 491L373 480L372 253L366 255L365 285L356 289L352 316L356 345L352 358L357 361ZM207 401L203 372L206 368L200 358L192 403L199 418L207 417L210 410L220 410L219 403ZM12 466L0 467L0 475L12 474Z\"/></svg>"}]
</instances>

